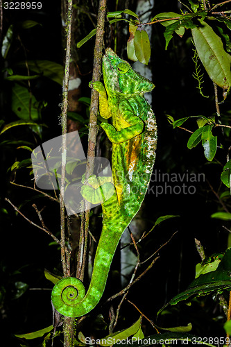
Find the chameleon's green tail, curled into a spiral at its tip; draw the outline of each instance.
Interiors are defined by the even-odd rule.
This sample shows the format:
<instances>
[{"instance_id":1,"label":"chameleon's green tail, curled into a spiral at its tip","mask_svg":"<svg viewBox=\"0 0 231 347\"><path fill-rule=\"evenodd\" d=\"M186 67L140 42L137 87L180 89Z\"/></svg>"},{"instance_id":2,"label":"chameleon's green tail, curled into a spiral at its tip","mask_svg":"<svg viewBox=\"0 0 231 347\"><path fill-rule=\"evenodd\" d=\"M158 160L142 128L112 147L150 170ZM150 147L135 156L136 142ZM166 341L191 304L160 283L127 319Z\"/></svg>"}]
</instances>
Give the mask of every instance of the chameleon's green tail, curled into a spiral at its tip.
<instances>
[{"instance_id":1,"label":"chameleon's green tail, curled into a spiral at its tip","mask_svg":"<svg viewBox=\"0 0 231 347\"><path fill-rule=\"evenodd\" d=\"M114 252L125 228L124 221L121 221L119 228L112 226L109 233L108 228L103 226L94 258L92 279L86 295L83 283L77 278L62 278L55 284L51 300L60 314L69 317L83 316L99 303L107 282Z\"/></svg>"}]
</instances>

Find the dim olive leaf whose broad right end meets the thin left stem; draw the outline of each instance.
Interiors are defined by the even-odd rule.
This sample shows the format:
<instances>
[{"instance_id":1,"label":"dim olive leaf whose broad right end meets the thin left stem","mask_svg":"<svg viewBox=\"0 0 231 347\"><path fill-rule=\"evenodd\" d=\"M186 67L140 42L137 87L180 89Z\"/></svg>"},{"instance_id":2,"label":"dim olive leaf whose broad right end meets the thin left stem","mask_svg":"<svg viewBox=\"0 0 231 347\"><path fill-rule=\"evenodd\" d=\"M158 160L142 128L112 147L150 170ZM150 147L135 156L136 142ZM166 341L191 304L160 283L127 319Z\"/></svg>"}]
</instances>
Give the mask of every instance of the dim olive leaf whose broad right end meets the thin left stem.
<instances>
[{"instance_id":1,"label":"dim olive leaf whose broad right end meets the thin left stem","mask_svg":"<svg viewBox=\"0 0 231 347\"><path fill-rule=\"evenodd\" d=\"M51 62L50 60L28 60L27 64L31 71L34 71L36 74L43 74L43 76L62 85L64 70L63 66L58 64L58 62ZM18 62L16 66L26 67L25 62Z\"/></svg>"}]
</instances>

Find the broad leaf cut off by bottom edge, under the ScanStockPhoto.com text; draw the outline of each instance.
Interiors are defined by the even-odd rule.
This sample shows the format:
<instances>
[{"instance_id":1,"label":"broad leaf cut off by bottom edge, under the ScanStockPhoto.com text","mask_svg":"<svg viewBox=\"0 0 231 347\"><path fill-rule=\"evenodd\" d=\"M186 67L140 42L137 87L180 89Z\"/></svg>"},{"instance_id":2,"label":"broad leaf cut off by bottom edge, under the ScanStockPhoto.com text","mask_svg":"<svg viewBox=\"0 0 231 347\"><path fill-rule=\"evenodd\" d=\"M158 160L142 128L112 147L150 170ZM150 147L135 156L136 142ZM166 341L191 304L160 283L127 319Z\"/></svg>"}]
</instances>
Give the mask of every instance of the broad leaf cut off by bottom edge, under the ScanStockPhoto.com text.
<instances>
[{"instance_id":1,"label":"broad leaf cut off by bottom edge, under the ScanStockPhoto.com text","mask_svg":"<svg viewBox=\"0 0 231 347\"><path fill-rule=\"evenodd\" d=\"M172 341L172 343L171 343ZM206 346L215 347L212 344L208 344L206 340L204 341L201 337L197 337L196 335L188 334L187 332L164 332L164 334L155 334L144 337L142 340L132 341L132 347L140 347L140 346L155 346L157 344L164 345L175 345L176 341L185 341L181 342L181 345L188 344L189 341L192 341L193 344L205 344ZM131 341L128 341L127 344L123 344L123 346L131 346ZM121 347L121 344L115 344L114 347ZM177 344L178 346L178 344Z\"/></svg>"}]
</instances>

